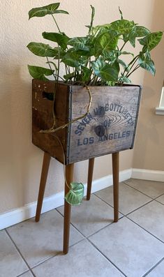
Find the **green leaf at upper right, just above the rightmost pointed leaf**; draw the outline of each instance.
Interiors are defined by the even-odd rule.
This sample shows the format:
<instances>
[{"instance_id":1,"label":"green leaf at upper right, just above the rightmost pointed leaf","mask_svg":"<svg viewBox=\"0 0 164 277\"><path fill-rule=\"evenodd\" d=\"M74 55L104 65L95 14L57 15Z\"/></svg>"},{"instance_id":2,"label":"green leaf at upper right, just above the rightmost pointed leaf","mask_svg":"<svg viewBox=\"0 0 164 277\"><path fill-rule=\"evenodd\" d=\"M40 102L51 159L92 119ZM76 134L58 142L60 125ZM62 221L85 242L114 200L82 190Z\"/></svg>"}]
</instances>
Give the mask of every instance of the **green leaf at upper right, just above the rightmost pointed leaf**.
<instances>
[{"instance_id":1,"label":"green leaf at upper right, just above the rightmost pointed leaf","mask_svg":"<svg viewBox=\"0 0 164 277\"><path fill-rule=\"evenodd\" d=\"M128 40L130 41L131 45L135 47L135 38L147 36L149 33L150 31L147 28L135 25L128 36Z\"/></svg>"}]
</instances>

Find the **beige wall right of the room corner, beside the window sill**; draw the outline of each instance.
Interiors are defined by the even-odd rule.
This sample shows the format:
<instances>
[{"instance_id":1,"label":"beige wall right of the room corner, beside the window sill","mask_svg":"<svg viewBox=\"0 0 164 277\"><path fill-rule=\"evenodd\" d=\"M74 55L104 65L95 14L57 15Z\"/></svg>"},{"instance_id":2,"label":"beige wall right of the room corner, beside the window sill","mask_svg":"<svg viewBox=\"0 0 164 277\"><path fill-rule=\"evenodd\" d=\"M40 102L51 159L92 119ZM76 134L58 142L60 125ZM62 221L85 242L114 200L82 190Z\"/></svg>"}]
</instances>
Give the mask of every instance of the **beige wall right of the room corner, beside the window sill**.
<instances>
[{"instance_id":1,"label":"beige wall right of the room corner, beside the window sill","mask_svg":"<svg viewBox=\"0 0 164 277\"><path fill-rule=\"evenodd\" d=\"M164 29L164 1L156 0L151 16L151 30ZM164 116L155 114L164 79L164 39L152 51L156 63L156 77L145 73L137 126L133 167L147 170L164 170Z\"/></svg>"}]
</instances>

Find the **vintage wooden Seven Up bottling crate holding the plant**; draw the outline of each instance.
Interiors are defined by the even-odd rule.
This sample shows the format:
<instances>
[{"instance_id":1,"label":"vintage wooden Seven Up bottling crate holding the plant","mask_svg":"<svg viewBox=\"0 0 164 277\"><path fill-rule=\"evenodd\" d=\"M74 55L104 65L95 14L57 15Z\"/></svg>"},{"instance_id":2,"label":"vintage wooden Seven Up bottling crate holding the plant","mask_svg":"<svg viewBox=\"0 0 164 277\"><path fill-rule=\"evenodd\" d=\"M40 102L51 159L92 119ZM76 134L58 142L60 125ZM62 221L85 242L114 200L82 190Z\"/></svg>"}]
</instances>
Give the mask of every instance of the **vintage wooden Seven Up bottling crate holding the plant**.
<instances>
[{"instance_id":1,"label":"vintage wooden Seven Up bottling crate holding the plant","mask_svg":"<svg viewBox=\"0 0 164 277\"><path fill-rule=\"evenodd\" d=\"M141 87L89 87L93 97L89 114L80 121L44 134L52 126L54 82L33 80L33 144L64 163L58 140L63 144L66 164L132 149L135 139ZM54 103L57 127L85 114L89 94L85 87L60 83Z\"/></svg>"}]
</instances>

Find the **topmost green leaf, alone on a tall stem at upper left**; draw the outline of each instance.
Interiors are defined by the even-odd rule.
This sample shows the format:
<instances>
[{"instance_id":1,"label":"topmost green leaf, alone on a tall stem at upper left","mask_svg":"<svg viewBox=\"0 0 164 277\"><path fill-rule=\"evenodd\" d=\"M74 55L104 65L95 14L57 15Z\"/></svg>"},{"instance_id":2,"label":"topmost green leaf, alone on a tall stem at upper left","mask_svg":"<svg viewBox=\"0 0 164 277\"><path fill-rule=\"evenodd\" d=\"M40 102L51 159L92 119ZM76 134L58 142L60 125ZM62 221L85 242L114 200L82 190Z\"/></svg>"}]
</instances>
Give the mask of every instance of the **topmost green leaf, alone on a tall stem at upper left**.
<instances>
[{"instance_id":1,"label":"topmost green leaf, alone on a tall stem at upper left","mask_svg":"<svg viewBox=\"0 0 164 277\"><path fill-rule=\"evenodd\" d=\"M59 8L60 3L52 3L47 6L32 8L29 10L29 20L31 17L43 17L45 15L53 15L54 13L66 13L66 10L57 10Z\"/></svg>"}]
</instances>

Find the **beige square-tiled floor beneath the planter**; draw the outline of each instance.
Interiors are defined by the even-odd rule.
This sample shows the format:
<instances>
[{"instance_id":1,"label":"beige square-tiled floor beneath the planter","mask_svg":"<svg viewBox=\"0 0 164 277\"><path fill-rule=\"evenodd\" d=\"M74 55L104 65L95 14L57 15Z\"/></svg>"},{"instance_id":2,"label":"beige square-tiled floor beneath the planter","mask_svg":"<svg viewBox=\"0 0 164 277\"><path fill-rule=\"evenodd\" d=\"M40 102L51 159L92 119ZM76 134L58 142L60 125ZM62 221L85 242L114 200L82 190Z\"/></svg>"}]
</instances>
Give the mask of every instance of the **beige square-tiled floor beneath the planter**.
<instances>
[{"instance_id":1,"label":"beige square-tiled floor beneath the planter","mask_svg":"<svg viewBox=\"0 0 164 277\"><path fill-rule=\"evenodd\" d=\"M0 231L0 277L164 277L164 183L120 184L73 207L70 250L62 255L63 207Z\"/></svg>"}]
</instances>

